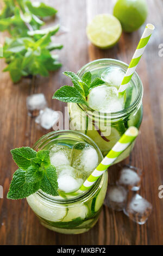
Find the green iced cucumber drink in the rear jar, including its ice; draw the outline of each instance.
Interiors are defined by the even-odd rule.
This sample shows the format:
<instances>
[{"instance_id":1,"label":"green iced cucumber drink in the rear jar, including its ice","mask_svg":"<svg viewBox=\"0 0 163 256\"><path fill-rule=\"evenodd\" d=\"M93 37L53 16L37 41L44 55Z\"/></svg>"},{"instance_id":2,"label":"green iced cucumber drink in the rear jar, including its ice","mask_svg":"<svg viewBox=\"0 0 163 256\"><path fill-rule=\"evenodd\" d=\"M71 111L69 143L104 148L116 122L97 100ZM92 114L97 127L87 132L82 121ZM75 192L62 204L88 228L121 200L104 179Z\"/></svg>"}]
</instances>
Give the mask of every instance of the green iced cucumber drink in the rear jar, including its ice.
<instances>
[{"instance_id":1,"label":"green iced cucumber drink in the rear jar, including its ice","mask_svg":"<svg viewBox=\"0 0 163 256\"><path fill-rule=\"evenodd\" d=\"M92 138L104 156L129 126L139 129L141 125L143 87L136 72L126 92L117 96L127 68L127 64L115 59L99 59L86 64L79 70L78 76L82 78L85 72L90 71L92 80L101 78L104 83L90 90L86 97L88 106L68 103L70 128ZM116 162L125 159L133 147L134 144L131 144Z\"/></svg>"}]
</instances>

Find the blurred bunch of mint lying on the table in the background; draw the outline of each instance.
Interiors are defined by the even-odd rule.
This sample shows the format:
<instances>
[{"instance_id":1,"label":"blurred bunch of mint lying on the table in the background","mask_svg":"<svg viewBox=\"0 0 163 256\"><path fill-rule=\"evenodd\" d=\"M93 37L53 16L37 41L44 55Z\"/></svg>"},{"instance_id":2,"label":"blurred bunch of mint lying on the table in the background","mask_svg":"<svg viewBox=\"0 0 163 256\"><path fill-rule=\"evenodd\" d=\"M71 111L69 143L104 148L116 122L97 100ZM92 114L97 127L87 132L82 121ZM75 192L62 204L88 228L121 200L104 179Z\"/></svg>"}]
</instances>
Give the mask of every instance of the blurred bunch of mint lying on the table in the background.
<instances>
[{"instance_id":1,"label":"blurred bunch of mint lying on the table in the background","mask_svg":"<svg viewBox=\"0 0 163 256\"><path fill-rule=\"evenodd\" d=\"M4 0L0 14L0 31L7 30L11 38L5 39L3 57L8 64L3 71L9 71L13 82L22 76L48 76L49 71L60 68L58 56L51 53L61 49L54 44L51 36L58 32L59 25L40 29L43 17L57 13L44 3L31 3L27 0Z\"/></svg>"}]
</instances>

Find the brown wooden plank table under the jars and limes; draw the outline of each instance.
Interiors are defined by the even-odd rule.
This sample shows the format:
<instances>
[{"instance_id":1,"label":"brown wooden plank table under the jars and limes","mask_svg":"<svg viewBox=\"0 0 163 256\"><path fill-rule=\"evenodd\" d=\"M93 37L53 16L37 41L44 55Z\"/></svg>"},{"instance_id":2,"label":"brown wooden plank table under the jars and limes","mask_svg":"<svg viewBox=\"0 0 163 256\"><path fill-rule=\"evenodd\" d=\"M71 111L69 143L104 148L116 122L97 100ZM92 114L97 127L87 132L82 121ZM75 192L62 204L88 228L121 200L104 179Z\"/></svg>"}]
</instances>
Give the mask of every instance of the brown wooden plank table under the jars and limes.
<instances>
[{"instance_id":1,"label":"brown wooden plank table under the jars and limes","mask_svg":"<svg viewBox=\"0 0 163 256\"><path fill-rule=\"evenodd\" d=\"M103 206L96 226L81 235L62 235L41 226L26 200L7 200L7 192L16 164L10 149L32 146L46 130L38 130L34 119L27 115L26 97L33 93L44 93L49 107L64 110L65 104L52 100L56 89L70 80L62 72L77 72L87 62L98 58L116 58L130 62L140 36L145 28L132 34L123 33L118 44L110 50L99 50L87 40L87 22L98 13L112 13L115 1L108 0L51 0L45 1L58 11L59 22L70 32L57 38L64 44L59 52L62 68L51 73L49 78L37 77L34 83L23 79L12 84L9 74L2 72L4 60L0 62L0 117L1 117L1 162L0 185L4 198L0 199L0 244L1 245L162 245L163 244L163 198L158 197L158 187L163 185L163 58L159 57L159 44L163 43L161 0L148 0L147 22L156 27L147 49L137 67L143 86L144 115L141 134L126 163L143 170L140 194L153 204L153 213L145 225L130 221L122 212ZM1 34L1 42L4 34ZM109 169L109 182L116 179L116 166Z\"/></svg>"}]
</instances>

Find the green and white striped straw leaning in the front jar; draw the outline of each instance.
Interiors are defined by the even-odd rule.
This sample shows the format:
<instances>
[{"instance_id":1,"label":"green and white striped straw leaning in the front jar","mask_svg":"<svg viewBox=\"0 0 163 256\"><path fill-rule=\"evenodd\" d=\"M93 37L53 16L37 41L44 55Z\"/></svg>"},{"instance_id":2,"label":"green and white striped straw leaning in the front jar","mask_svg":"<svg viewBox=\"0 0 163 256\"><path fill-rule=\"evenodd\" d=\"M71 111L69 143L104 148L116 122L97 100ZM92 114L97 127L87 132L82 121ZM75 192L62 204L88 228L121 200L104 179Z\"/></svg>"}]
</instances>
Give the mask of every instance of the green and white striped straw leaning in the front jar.
<instances>
[{"instance_id":1,"label":"green and white striped straw leaning in the front jar","mask_svg":"<svg viewBox=\"0 0 163 256\"><path fill-rule=\"evenodd\" d=\"M89 190L96 180L105 172L105 170L111 166L111 164L117 159L119 155L134 141L139 131L136 127L130 126L128 130L122 135L119 141L109 151L108 155L104 157L102 162L92 172L92 174L84 181L84 184L79 188L78 192Z\"/></svg>"}]
</instances>

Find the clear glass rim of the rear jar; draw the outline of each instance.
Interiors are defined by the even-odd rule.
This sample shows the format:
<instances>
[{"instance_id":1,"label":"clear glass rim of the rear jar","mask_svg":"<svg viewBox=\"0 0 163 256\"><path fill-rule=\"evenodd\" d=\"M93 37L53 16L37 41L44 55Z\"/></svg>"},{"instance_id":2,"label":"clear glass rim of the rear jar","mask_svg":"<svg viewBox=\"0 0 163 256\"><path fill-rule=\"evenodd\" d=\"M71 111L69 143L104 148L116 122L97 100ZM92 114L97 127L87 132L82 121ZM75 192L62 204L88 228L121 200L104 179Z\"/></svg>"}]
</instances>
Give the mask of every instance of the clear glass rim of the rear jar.
<instances>
[{"instance_id":1,"label":"clear glass rim of the rear jar","mask_svg":"<svg viewBox=\"0 0 163 256\"><path fill-rule=\"evenodd\" d=\"M85 71L89 71L90 66L93 66L93 65L96 65L96 64L104 64L104 63L108 64L108 62L110 62L110 64L116 64L116 65L119 64L121 66L121 68L123 68L125 71L128 68L128 65L126 63L122 62L121 60L111 59L111 58L103 58L103 59L96 59L96 60L93 60L92 62L89 62L89 63L85 64L77 72L77 74L80 77L80 76L83 75L83 73ZM99 115L100 115L101 118L104 118L104 119L107 119L107 118L108 119L116 119L116 118L126 117L126 115L130 114L131 112L133 112L137 108L137 106L139 105L139 103L141 102L142 97L143 97L143 84L142 84L141 78L139 77L139 75L137 74L136 71L134 72L133 77L135 77L135 79L137 81L136 83L133 81L134 84L139 84L139 91L137 92L135 100L127 108L124 108L121 111L117 111L117 112L103 113L103 112L95 111L95 109L92 109L92 108L87 107L85 105L82 105L80 103L77 103L77 105L83 111L90 112L90 113L92 113L92 112L95 113L95 114L93 114L93 115L95 115L95 117L99 117Z\"/></svg>"}]
</instances>

